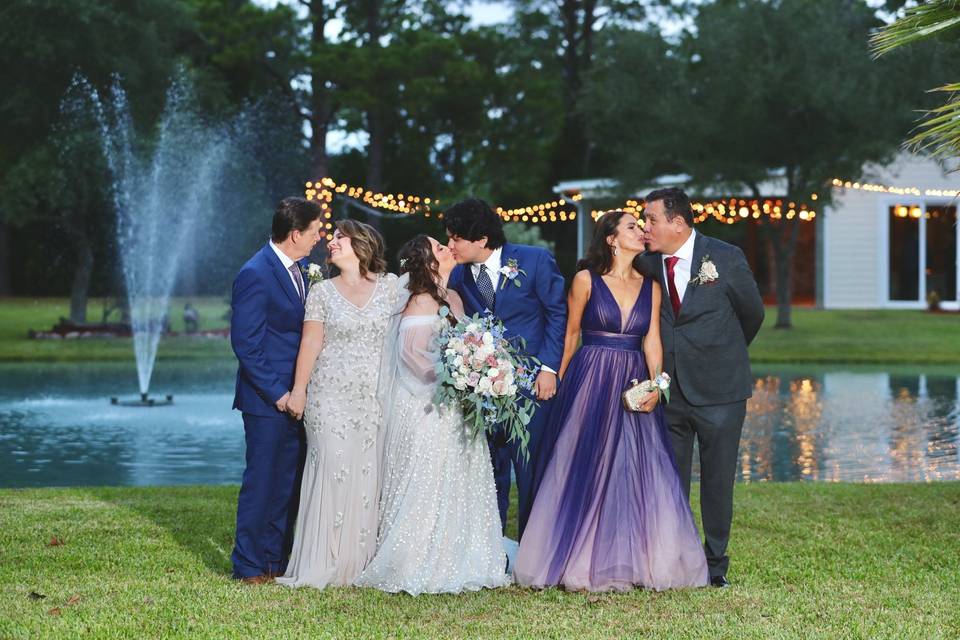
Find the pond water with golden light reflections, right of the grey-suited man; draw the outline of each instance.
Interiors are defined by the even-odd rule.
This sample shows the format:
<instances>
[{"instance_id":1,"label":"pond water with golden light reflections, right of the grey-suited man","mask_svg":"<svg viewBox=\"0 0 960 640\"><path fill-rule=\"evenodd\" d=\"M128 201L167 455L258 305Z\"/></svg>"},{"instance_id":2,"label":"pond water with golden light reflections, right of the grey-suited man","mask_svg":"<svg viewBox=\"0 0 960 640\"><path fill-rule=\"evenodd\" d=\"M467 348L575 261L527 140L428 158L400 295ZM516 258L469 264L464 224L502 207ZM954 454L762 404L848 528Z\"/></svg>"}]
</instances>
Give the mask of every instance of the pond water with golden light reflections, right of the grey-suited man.
<instances>
[{"instance_id":1,"label":"pond water with golden light reflections, right of the grey-suited man","mask_svg":"<svg viewBox=\"0 0 960 640\"><path fill-rule=\"evenodd\" d=\"M747 404L739 479L960 479L960 377L768 371Z\"/></svg>"}]
</instances>

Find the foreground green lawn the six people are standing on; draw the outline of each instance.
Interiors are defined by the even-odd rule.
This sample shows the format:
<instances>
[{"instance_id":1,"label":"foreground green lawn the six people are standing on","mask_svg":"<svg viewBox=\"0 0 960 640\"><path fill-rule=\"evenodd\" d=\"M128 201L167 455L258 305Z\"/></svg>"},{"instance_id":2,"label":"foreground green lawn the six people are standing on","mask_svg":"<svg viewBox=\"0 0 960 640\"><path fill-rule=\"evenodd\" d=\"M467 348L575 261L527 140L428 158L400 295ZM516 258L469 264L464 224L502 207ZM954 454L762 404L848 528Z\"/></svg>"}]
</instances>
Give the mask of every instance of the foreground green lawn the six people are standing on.
<instances>
[{"instance_id":1,"label":"foreground green lawn the six people are standing on","mask_svg":"<svg viewBox=\"0 0 960 640\"><path fill-rule=\"evenodd\" d=\"M0 637L960 636L960 483L739 486L730 589L418 598L230 580L236 493L0 491Z\"/></svg>"}]
</instances>

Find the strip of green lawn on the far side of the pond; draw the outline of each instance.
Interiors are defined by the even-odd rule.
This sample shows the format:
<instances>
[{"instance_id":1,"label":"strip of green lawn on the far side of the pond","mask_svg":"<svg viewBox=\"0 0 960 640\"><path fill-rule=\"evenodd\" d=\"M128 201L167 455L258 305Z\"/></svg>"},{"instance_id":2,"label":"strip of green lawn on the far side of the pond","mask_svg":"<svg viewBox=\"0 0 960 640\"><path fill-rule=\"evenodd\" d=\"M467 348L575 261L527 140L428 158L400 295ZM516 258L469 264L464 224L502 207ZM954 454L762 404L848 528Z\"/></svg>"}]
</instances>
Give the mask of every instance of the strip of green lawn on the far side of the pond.
<instances>
[{"instance_id":1,"label":"strip of green lawn on the far side of the pond","mask_svg":"<svg viewBox=\"0 0 960 640\"><path fill-rule=\"evenodd\" d=\"M182 329L185 299L174 299L174 330ZM200 309L201 328L226 326L227 304L218 298L191 300ZM28 329L49 329L66 315L63 298L0 299L0 362L126 361L132 357L129 339L29 340ZM91 301L88 317L102 314L102 302ZM764 327L750 348L755 363L960 364L960 314L923 311L793 310L795 327L773 328L776 311L767 309ZM160 360L231 359L221 338L164 338Z\"/></svg>"}]
</instances>

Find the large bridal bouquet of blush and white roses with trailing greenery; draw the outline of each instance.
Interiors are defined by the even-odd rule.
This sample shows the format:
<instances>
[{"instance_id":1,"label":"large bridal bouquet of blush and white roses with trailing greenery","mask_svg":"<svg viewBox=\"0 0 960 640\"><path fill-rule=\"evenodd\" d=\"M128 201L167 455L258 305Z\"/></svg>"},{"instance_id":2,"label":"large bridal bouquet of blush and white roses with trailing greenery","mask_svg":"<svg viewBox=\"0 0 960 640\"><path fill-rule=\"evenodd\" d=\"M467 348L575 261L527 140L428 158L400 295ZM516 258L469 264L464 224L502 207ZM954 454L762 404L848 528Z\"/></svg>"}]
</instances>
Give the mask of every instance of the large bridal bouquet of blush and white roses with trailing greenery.
<instances>
[{"instance_id":1,"label":"large bridal bouquet of blush and white roses with trailing greenery","mask_svg":"<svg viewBox=\"0 0 960 640\"><path fill-rule=\"evenodd\" d=\"M440 309L440 384L434 402L460 407L474 438L493 432L499 425L508 440L519 442L527 458L527 424L536 409L532 390L539 363L520 354L517 346L504 337L503 323L492 315L474 315L451 325L449 314L446 307ZM517 340L522 349L522 339Z\"/></svg>"}]
</instances>

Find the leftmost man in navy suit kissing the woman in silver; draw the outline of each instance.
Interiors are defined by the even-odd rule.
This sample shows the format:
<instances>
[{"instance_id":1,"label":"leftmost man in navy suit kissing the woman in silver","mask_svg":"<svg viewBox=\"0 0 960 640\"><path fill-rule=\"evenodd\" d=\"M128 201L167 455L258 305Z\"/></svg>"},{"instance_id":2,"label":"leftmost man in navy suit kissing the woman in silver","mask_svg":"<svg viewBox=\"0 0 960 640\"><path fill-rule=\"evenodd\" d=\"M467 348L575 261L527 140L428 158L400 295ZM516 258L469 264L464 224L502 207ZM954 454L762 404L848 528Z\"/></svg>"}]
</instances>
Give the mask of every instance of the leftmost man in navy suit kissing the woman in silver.
<instances>
[{"instance_id":1,"label":"leftmost man in navy suit kissing the woman in silver","mask_svg":"<svg viewBox=\"0 0 960 640\"><path fill-rule=\"evenodd\" d=\"M303 425L287 415L307 278L300 261L320 240L323 210L285 198L270 241L233 282L230 342L240 361L233 408L243 412L247 467L237 501L233 577L261 584L282 575L293 542L303 472Z\"/></svg>"}]
</instances>

